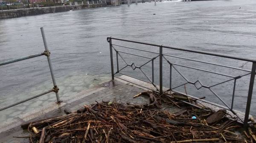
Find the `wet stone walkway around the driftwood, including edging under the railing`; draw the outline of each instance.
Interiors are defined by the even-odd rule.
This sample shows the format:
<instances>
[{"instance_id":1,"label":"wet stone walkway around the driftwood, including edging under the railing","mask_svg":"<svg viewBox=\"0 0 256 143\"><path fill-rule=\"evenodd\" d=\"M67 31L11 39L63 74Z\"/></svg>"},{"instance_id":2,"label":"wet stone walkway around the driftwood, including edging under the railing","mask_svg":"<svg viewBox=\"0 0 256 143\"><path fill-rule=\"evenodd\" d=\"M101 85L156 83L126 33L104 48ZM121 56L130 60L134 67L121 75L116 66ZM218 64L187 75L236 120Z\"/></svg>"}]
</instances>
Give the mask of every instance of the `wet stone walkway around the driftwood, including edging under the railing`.
<instances>
[{"instance_id":1,"label":"wet stone walkway around the driftwood, including edging under the railing","mask_svg":"<svg viewBox=\"0 0 256 143\"><path fill-rule=\"evenodd\" d=\"M122 76L122 79L127 81L133 81L138 85L143 85L144 87L150 87L148 83L139 81L137 79L132 79L128 76ZM121 79L115 79L114 81L108 80L101 84L95 85L94 87L83 90L76 95L62 98L62 103L57 105L55 103L46 104L40 109L31 110L26 113L26 115L17 115L17 117L9 123L0 124L0 143L26 143L29 142L28 139L14 138L29 135L28 132L21 129L20 124L36 119L47 119L55 116L66 115L65 111L76 112L81 109L85 104L90 105L93 103L101 101L117 101L122 103L130 103L134 105L148 104L148 96L141 95L137 98L133 98L141 92L145 92L145 89L140 88L135 84L131 84L127 81ZM203 103L201 103L203 104ZM167 104L163 105L164 110L168 110L170 113L175 114L185 109L186 106L178 108L176 106L169 106ZM214 110L219 108L207 105ZM241 116L243 113L238 112Z\"/></svg>"}]
</instances>

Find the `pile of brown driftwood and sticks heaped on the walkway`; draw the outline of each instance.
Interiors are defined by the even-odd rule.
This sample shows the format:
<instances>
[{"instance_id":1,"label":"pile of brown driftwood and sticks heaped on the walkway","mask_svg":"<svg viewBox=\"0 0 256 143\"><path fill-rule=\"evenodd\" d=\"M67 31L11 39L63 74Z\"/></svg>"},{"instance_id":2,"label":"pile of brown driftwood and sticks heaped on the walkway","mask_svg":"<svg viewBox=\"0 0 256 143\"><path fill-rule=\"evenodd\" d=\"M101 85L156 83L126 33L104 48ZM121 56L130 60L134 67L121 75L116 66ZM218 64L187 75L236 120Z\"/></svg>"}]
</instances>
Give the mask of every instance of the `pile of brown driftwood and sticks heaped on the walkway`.
<instances>
[{"instance_id":1,"label":"pile of brown driftwood and sticks heaped on the walkway","mask_svg":"<svg viewBox=\"0 0 256 143\"><path fill-rule=\"evenodd\" d=\"M76 113L32 122L32 143L253 143L253 131L237 132L241 124L212 112L187 106L171 114L163 104L180 107L174 95L148 95L150 104L101 102L84 105ZM179 96L179 95L178 95ZM187 98L190 103L195 102ZM163 103L164 101L164 103ZM194 116L194 117L193 117ZM193 117L193 118L192 118Z\"/></svg>"}]
</instances>

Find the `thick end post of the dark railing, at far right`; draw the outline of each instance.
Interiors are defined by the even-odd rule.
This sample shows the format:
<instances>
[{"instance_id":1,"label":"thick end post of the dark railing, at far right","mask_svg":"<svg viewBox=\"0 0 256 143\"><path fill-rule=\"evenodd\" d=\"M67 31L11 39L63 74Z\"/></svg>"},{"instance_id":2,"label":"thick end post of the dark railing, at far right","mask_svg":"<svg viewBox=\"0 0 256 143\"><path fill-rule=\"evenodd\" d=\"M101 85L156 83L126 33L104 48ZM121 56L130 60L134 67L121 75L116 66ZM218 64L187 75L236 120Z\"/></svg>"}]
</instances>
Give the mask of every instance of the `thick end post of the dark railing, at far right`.
<instances>
[{"instance_id":1,"label":"thick end post of the dark railing, at far right","mask_svg":"<svg viewBox=\"0 0 256 143\"><path fill-rule=\"evenodd\" d=\"M245 115L244 115L244 128L247 128L247 126L248 126L248 120L249 120L249 114L250 114L250 104L251 104L252 95L253 95L253 84L254 84L254 78L255 78L255 71L256 71L256 62L253 62L252 71L250 74L250 84L249 84L249 90L248 90L246 110L245 110Z\"/></svg>"}]
</instances>

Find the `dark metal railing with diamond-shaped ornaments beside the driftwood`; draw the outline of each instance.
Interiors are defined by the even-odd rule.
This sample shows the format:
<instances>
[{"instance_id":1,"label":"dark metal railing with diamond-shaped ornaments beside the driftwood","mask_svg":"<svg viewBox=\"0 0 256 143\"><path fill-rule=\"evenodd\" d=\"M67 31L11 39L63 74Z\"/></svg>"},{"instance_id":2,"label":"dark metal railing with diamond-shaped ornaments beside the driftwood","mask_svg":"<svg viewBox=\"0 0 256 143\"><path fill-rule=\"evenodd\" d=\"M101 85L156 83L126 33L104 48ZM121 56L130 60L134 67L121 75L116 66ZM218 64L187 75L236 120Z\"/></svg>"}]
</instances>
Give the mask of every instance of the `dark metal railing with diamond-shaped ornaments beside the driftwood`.
<instances>
[{"instance_id":1,"label":"dark metal railing with diamond-shaped ornaments beside the driftwood","mask_svg":"<svg viewBox=\"0 0 256 143\"><path fill-rule=\"evenodd\" d=\"M159 52L153 52L153 51L148 51L148 50L142 50L142 49L137 49L137 48L131 48L131 47L128 47L128 46L122 46L122 45L116 45L116 44L112 44L112 39L115 39L115 40L119 40L119 41L125 41L125 42L132 42L132 43L137 43L137 44L143 44L143 45L150 45L150 46L155 46L157 48L159 48ZM195 87L196 87L196 83L198 84L201 84L201 87L204 87L204 88L207 88L209 91L211 91L227 108L224 108L224 109L228 109L229 111L231 111L234 115L236 115L240 120L241 118L236 114L236 112L233 110L233 103L234 103L234 98L235 98L235 90L236 90L236 80L237 79L240 79L241 77L243 76L247 76L247 75L250 75L250 84L249 84L249 90L248 90L248 95L247 95L247 104L246 104L246 110L245 110L245 115L244 115L244 121L242 121L244 123L244 127L247 127L248 126L248 119L249 119L249 113L250 113L250 104L251 104L251 99L252 99L252 93L253 93L253 84L254 84L254 79L255 79L255 73L256 73L256 60L255 59L247 59L247 58L241 58L241 57L236 57L236 56L229 56L229 55L222 55L222 54L218 54L218 53L211 53L211 52L205 52L205 51L198 51L198 50L189 50L189 49L183 49L183 48L174 48L174 47L169 47L169 46L163 46L163 45L156 45L156 44L150 44L150 43L146 43L146 42L137 42L137 41L132 41L132 40L126 40L126 39L119 39L119 38L113 38L113 37L107 37L107 41L109 42L109 45L110 45L110 58L111 58L111 74L112 74L112 80L114 80L114 77L116 78L119 78L121 79L120 77L118 76L115 76L117 73L120 73L121 70L123 70L124 68L126 67L131 67L133 70L135 70L136 68L138 68L142 73L143 75L148 79L148 81L150 82L147 82L147 81L144 81L143 79L138 79L136 77L133 77L133 76L129 76L129 75L126 75L126 76L129 76L131 78L135 78L135 79L138 79L138 80L141 80L141 81L144 81L144 82L147 82L149 84L152 84L156 89L157 89L157 92L159 92L160 94L163 94L165 92L168 92L168 91L173 91L173 92L177 92L175 91L174 89L177 88L177 87L180 87L180 86L183 86L183 85L186 85L186 84L193 84ZM157 85L154 84L154 59L156 59L158 56L156 57L153 57L153 58L150 58L150 57L145 57L145 56L142 56L142 55L137 55L137 54L131 54L131 53L127 53L127 52L123 52L123 51L120 51L120 50L117 50L116 48L113 47L113 45L115 46L119 46L119 47L123 47L123 48L129 48L129 49L134 49L134 50L140 50L140 51L144 51L144 52L150 52L150 53L155 53L155 54L158 54L159 56L159 88L157 88ZM117 71L116 73L114 73L113 71L113 52L112 52L112 48L116 51L116 65L117 65ZM215 64L215 63L211 63L211 62L204 62L204 61L201 61L201 60L194 60L194 59L188 59L188 58L183 58L183 57L180 57L180 56L173 56L173 55L168 55L168 54L164 54L163 53L163 48L168 48L168 49L173 49L173 50L181 50L181 51L186 51L186 52L191 52L191 53L200 53L200 54L204 54L204 55L209 55L209 56L218 56L218 57L222 57L222 58L228 58L228 59L235 59L235 60L241 60L241 61L247 61L247 62L252 62L252 69L251 70L244 70L244 69L240 69L240 68L237 68L237 67L230 67L230 66L226 66L226 65L221 65L221 64ZM125 54L130 54L130 55L134 55L134 56L140 56L140 57L143 57L143 58L146 58L146 59L151 59L150 61L148 62L152 62L152 80L150 80L148 78L148 76L143 72L143 70L141 69L142 66L144 66L145 64L147 64L148 62L146 62L145 64L143 64L142 66L135 66L135 63L133 62L132 64L129 64L128 62L125 61L125 59L120 55L120 53L125 53ZM120 56L122 58L122 60L125 62L126 66L125 67L122 67L120 70L119 70L119 64L118 64L118 56ZM173 62L170 62L168 59L165 58L165 56L172 56L172 57L175 57L175 58L180 58L180 59L185 59L185 60L190 60L190 61L194 61L194 62L201 62L201 63L206 63L206 64L212 64L212 65L216 65L216 66L221 66L221 67L227 67L227 68L231 68L231 69L235 69L235 70L242 70L242 71L246 71L246 72L249 72L249 73L246 73L246 74L241 74L239 76L230 76L230 75L227 75L227 74L223 74L223 73L217 73L217 72L213 72L213 71L210 71L210 70L204 70L204 69L201 69L201 68L195 68L195 67L191 67L191 66L185 66L185 65L182 65L182 64L176 64L176 63L173 63ZM169 64L169 68L170 68L170 82L169 82L169 90L166 90L166 91L163 91L163 59L166 60ZM197 81L195 82L192 82L190 81L189 79L186 78L186 76L184 76L182 73L179 72L179 70L177 70L177 68L175 66L181 66L181 67L187 67L189 69L194 69L194 70L201 70L201 71L204 71L204 72L207 72L207 73L214 73L214 74L218 74L218 75L221 75L221 76L226 76L226 77L230 77L232 79L229 79L229 80L225 80L225 81L221 81L220 83L218 84L214 84L212 86L206 86L204 84L201 83L201 81L198 79ZM180 74L180 76L183 77L183 79L186 80L186 83L185 84L181 84L180 86L177 86L177 87L174 87L172 88L172 68L174 70L177 71L177 73ZM123 73L120 73L121 75L125 75ZM125 79L122 79L122 80L125 80ZM232 95L232 102L231 102L231 107L225 103L224 100L221 99L221 97L215 93L211 87L214 87L214 86L217 86L219 84L223 84L225 82L228 82L228 81L232 81L234 80L234 86L233 86L233 95ZM125 80L127 81L127 80ZM131 82L131 81L128 81L128 82ZM131 82L133 83L133 82ZM135 83L133 83L135 84ZM137 84L138 85L138 84ZM142 85L139 85L141 87L143 87ZM197 90L199 90L201 87L196 87ZM147 87L144 87L144 88L147 88ZM149 88L147 88L149 89ZM154 89L150 89L150 90L153 90L153 91L156 91ZM189 96L189 95L186 95L186 96ZM209 103L209 102L206 102L206 103Z\"/></svg>"}]
</instances>

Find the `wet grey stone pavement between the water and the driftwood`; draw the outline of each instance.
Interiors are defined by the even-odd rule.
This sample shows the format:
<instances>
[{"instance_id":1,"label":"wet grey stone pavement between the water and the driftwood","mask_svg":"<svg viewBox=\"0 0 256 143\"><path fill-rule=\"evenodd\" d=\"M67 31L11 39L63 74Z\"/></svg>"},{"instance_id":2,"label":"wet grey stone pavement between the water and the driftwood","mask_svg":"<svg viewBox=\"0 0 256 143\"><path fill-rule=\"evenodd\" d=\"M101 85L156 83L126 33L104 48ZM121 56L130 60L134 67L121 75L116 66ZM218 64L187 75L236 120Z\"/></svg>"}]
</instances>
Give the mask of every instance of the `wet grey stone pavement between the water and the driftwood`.
<instances>
[{"instance_id":1,"label":"wet grey stone pavement between the water and the driftwood","mask_svg":"<svg viewBox=\"0 0 256 143\"><path fill-rule=\"evenodd\" d=\"M49 106L49 108L44 108L38 112L27 113L29 117L16 119L16 126L7 131L1 132L0 129L0 143L29 143L28 139L23 138L13 138L13 136L26 136L28 133L23 131L20 128L20 123L28 121L30 119L39 119L39 118L49 118L56 115L65 115L64 109L69 109L72 112L76 111L83 107L84 104L93 104L95 101L118 101L122 103L131 103L131 104L145 104L149 102L147 96L139 96L133 98L134 95L137 95L141 92L144 92L145 89L139 88L134 84L128 84L128 82L122 80L107 81L103 84L96 85L90 90L84 90L72 96L72 98L62 99L63 103L60 107L56 108ZM74 97L74 98L73 98ZM171 112L175 113L180 111L177 107L166 107ZM51 110L52 109L52 110ZM3 131L3 130L2 130Z\"/></svg>"}]
</instances>

